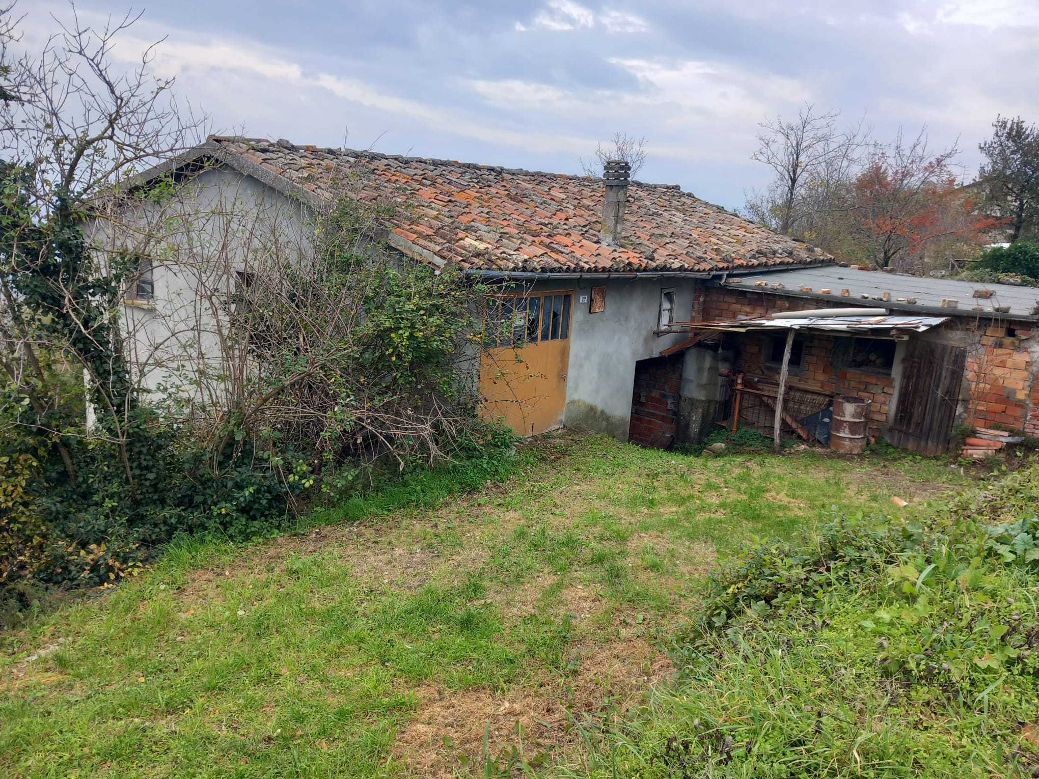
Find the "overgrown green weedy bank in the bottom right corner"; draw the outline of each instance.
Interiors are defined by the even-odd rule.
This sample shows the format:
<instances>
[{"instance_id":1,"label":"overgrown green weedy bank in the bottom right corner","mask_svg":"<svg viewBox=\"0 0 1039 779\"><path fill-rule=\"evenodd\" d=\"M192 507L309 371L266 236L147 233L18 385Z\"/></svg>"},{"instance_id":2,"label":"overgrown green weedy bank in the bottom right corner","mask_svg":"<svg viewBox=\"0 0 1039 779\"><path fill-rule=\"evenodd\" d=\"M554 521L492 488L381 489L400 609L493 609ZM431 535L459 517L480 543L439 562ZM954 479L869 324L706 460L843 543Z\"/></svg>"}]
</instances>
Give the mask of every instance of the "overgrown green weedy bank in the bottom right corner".
<instances>
[{"instance_id":1,"label":"overgrown green weedy bank in the bottom right corner","mask_svg":"<svg viewBox=\"0 0 1039 779\"><path fill-rule=\"evenodd\" d=\"M1037 498L1032 465L926 522L747 549L673 643L674 686L594 734L582 775L1035 775Z\"/></svg>"}]
</instances>

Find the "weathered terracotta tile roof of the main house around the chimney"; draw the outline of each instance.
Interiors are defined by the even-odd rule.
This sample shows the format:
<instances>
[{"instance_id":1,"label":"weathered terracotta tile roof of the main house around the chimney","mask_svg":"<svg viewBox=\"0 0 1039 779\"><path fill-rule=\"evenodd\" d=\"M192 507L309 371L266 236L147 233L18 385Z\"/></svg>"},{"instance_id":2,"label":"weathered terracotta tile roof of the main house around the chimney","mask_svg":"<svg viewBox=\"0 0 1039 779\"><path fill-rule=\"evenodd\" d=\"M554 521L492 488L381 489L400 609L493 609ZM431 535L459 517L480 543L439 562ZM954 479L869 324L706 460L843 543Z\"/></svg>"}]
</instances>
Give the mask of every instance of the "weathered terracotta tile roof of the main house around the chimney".
<instances>
[{"instance_id":1,"label":"weathered terracotta tile roof of the main house around the chimney","mask_svg":"<svg viewBox=\"0 0 1039 779\"><path fill-rule=\"evenodd\" d=\"M832 261L677 186L632 182L620 246L611 248L600 242L601 179L284 140L214 136L204 145L317 196L347 181L352 196L388 198L397 207L387 224L394 245L465 268L714 271Z\"/></svg>"}]
</instances>

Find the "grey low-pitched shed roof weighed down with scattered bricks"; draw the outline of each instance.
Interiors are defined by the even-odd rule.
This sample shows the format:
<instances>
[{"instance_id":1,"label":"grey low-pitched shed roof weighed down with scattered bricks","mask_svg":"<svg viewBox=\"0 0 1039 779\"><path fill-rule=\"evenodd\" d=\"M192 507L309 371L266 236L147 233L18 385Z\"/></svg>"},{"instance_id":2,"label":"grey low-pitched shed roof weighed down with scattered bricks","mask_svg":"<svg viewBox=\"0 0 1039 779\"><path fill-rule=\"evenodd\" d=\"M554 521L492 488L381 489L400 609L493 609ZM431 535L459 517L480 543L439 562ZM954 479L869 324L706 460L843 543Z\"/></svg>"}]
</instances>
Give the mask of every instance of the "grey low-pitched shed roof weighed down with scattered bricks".
<instances>
[{"instance_id":1,"label":"grey low-pitched shed roof weighed down with scattered bricks","mask_svg":"<svg viewBox=\"0 0 1039 779\"><path fill-rule=\"evenodd\" d=\"M1034 287L906 276L900 273L842 268L837 265L729 276L723 286L734 290L829 300L844 305L873 306L878 305L880 301L879 304L885 308L917 311L924 314L940 313L942 316L1033 321L1039 318L1032 313L1039 303L1039 289ZM802 287L807 289L802 290ZM824 289L830 292L821 293L820 290ZM841 295L844 289L849 292L847 297ZM991 290L992 294L988 298L976 298L975 290ZM885 292L890 293L890 300L883 300ZM915 302L910 303L899 298L914 299ZM941 307L943 298L955 298L959 301L958 307ZM996 306L1010 306L1010 311L997 312Z\"/></svg>"}]
</instances>

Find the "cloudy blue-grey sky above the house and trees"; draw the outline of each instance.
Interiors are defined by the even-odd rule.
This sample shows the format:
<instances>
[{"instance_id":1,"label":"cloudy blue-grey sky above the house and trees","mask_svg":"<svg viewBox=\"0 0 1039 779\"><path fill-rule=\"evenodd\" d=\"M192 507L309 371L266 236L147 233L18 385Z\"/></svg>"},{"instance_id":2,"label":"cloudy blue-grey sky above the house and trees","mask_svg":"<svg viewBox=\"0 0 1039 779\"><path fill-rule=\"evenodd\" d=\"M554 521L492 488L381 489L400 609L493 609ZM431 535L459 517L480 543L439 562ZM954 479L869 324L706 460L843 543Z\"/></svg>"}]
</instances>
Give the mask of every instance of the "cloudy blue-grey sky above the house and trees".
<instances>
[{"instance_id":1,"label":"cloudy blue-grey sky above the house and trees","mask_svg":"<svg viewBox=\"0 0 1039 779\"><path fill-rule=\"evenodd\" d=\"M69 15L20 10L30 45ZM882 138L926 125L965 176L997 113L1039 122L1039 0L177 0L115 55L163 36L156 70L219 131L560 172L624 131L640 179L729 208L768 181L756 123L805 102Z\"/></svg>"}]
</instances>

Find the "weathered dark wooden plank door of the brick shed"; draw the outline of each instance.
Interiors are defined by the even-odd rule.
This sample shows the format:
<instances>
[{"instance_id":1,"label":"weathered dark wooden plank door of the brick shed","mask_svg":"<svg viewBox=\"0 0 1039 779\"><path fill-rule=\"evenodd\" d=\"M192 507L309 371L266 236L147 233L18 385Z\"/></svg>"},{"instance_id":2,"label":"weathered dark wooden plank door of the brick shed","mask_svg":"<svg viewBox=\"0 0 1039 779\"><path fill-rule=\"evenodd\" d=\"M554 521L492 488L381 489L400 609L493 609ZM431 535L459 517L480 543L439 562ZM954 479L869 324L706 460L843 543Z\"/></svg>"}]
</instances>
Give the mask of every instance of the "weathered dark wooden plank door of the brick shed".
<instances>
[{"instance_id":1,"label":"weathered dark wooden plank door of the brick shed","mask_svg":"<svg viewBox=\"0 0 1039 779\"><path fill-rule=\"evenodd\" d=\"M909 342L895 421L887 432L894 446L923 454L949 448L966 358L966 349L958 346Z\"/></svg>"}]
</instances>

